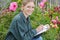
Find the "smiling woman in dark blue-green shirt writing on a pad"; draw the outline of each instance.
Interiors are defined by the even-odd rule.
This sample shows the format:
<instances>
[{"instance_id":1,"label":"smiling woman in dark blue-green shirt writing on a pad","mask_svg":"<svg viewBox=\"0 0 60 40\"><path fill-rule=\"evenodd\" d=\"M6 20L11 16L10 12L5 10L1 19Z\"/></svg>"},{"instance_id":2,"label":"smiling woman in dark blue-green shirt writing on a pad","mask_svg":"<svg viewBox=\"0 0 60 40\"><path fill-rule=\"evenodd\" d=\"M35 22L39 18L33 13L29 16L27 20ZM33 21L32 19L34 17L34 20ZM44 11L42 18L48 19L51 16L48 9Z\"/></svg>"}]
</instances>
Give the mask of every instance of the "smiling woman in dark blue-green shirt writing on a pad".
<instances>
[{"instance_id":1,"label":"smiling woman in dark blue-green shirt writing on a pad","mask_svg":"<svg viewBox=\"0 0 60 40\"><path fill-rule=\"evenodd\" d=\"M43 28L31 28L29 15L34 11L34 7L33 0L22 1L22 11L14 17L5 40L42 40L41 37L33 38Z\"/></svg>"}]
</instances>

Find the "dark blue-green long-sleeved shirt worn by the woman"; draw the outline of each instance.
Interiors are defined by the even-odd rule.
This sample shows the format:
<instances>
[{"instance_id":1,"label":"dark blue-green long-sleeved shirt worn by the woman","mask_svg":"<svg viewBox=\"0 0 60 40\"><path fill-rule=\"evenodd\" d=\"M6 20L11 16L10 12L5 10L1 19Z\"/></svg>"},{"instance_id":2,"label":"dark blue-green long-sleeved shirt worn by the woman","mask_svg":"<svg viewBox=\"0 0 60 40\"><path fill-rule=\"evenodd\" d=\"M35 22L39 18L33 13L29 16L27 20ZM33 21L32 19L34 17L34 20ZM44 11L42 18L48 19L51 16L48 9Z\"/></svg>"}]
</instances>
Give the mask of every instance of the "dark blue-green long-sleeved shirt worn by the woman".
<instances>
[{"instance_id":1,"label":"dark blue-green long-sleeved shirt worn by the woman","mask_svg":"<svg viewBox=\"0 0 60 40\"><path fill-rule=\"evenodd\" d=\"M20 12L12 20L5 40L31 40L36 33L31 27L30 18L26 19L23 12Z\"/></svg>"}]
</instances>

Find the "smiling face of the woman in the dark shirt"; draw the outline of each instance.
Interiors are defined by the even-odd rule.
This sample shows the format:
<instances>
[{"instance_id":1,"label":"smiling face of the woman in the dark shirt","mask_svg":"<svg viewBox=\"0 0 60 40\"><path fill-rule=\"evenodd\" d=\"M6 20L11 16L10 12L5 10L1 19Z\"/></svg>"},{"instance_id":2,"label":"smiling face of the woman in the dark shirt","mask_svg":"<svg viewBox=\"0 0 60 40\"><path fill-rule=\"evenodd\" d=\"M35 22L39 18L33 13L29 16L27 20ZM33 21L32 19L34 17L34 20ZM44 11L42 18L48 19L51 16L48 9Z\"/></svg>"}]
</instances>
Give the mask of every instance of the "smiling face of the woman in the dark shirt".
<instances>
[{"instance_id":1,"label":"smiling face of the woman in the dark shirt","mask_svg":"<svg viewBox=\"0 0 60 40\"><path fill-rule=\"evenodd\" d=\"M29 2L28 4L23 6L23 9L24 9L23 12L29 16L34 11L34 7L35 7L34 2Z\"/></svg>"}]
</instances>

